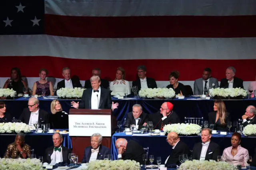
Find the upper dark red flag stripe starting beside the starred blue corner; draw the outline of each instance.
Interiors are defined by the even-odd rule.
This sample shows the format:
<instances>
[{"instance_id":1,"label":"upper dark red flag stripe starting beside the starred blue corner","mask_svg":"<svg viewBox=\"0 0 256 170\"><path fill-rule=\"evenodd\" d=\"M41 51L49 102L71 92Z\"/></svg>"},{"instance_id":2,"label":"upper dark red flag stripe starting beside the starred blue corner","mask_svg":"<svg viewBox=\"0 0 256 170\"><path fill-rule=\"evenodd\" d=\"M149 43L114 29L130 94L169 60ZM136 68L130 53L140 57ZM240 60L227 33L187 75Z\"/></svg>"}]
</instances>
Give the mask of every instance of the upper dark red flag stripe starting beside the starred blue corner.
<instances>
[{"instance_id":1,"label":"upper dark red flag stripe starting beside the starred blue corner","mask_svg":"<svg viewBox=\"0 0 256 170\"><path fill-rule=\"evenodd\" d=\"M45 32L81 38L256 37L256 16L85 17L45 15Z\"/></svg>"}]
</instances>

